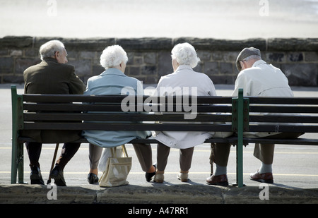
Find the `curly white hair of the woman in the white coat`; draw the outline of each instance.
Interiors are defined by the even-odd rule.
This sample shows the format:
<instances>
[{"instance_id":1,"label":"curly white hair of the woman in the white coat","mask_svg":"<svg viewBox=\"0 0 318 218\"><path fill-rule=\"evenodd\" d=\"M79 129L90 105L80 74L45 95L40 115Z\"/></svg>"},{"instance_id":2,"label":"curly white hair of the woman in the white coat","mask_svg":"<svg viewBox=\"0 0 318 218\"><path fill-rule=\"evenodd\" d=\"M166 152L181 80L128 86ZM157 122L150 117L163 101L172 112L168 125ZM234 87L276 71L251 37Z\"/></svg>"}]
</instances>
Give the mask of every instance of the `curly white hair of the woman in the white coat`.
<instances>
[{"instance_id":1,"label":"curly white hair of the woman in the white coat","mask_svg":"<svg viewBox=\"0 0 318 218\"><path fill-rule=\"evenodd\" d=\"M200 61L194 47L187 42L175 45L171 51L171 57L177 59L179 65L189 65L192 68L195 68Z\"/></svg>"}]
</instances>

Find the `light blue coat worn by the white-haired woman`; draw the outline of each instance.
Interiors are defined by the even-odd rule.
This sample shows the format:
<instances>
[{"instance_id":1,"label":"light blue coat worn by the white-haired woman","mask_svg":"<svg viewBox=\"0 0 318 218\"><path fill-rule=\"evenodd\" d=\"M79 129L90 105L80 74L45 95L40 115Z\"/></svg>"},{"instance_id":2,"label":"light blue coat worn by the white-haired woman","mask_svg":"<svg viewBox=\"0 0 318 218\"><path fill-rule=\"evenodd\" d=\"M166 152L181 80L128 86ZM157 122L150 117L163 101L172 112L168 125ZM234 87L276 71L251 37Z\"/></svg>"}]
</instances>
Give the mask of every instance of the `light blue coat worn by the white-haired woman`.
<instances>
[{"instance_id":1,"label":"light blue coat worn by the white-haired woman","mask_svg":"<svg viewBox=\"0 0 318 218\"><path fill-rule=\"evenodd\" d=\"M131 87L135 95L143 95L141 81L131 78L117 68L108 68L100 75L88 79L84 95L123 95L122 89ZM131 93L131 92L130 92ZM124 94L126 95L126 93ZM93 111L91 112L93 113ZM100 147L116 147L133 140L134 138L147 138L150 131L83 131L89 143Z\"/></svg>"}]
</instances>

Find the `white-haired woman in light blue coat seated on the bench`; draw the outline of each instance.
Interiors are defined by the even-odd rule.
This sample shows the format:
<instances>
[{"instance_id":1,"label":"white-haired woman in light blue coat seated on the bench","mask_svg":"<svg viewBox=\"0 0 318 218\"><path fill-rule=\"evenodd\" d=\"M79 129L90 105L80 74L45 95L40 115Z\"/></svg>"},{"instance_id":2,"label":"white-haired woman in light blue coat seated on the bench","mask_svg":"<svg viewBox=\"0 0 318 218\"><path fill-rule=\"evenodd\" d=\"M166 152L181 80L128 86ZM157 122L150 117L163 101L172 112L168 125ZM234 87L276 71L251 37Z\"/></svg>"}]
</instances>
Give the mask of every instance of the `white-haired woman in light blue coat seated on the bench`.
<instances>
[{"instance_id":1,"label":"white-haired woman in light blue coat seated on the bench","mask_svg":"<svg viewBox=\"0 0 318 218\"><path fill-rule=\"evenodd\" d=\"M84 95L122 95L123 88L131 88L136 95L143 95L141 81L124 74L128 57L119 45L107 47L100 56L100 64L106 71L88 79ZM98 182L98 163L103 147L117 147L134 138L147 138L149 131L83 131L88 140L90 172L89 183ZM152 150L149 144L133 144L143 171L146 171L146 181L151 181L155 175L152 164Z\"/></svg>"}]
</instances>

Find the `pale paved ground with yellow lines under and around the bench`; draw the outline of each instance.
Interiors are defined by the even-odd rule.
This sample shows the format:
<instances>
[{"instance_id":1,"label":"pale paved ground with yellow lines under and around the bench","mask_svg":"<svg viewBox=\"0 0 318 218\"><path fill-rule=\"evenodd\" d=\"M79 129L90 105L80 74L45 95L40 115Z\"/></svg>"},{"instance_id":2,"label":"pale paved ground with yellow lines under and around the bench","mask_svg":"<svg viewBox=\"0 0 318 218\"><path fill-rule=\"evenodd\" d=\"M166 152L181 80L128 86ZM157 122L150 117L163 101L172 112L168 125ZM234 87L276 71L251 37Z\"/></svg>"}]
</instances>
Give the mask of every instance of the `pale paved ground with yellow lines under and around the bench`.
<instances>
[{"instance_id":1,"label":"pale paved ground with yellow lines under and around the bench","mask_svg":"<svg viewBox=\"0 0 318 218\"><path fill-rule=\"evenodd\" d=\"M198 145L194 151L192 169L188 183L177 180L179 170L179 152L171 150L165 173L165 183L147 183L141 171L136 154L131 145L127 145L129 155L133 157L133 166L127 180L128 186L100 188L86 181L88 174L88 145L83 144L78 153L64 170L67 187L57 187L57 200L49 200L54 188L10 184L11 171L11 94L10 85L0 85L0 203L134 203L134 204L268 204L268 203L318 203L318 146L277 145L274 158L274 183L260 186L250 181L249 173L258 169L260 163L252 155L253 145L244 148L244 183L246 187L218 187L205 184L209 176L209 145ZM22 93L22 87L18 86ZM230 95L232 86L216 85L218 95ZM295 96L318 96L317 87L293 87ZM313 135L318 137L318 135ZM156 149L153 148L153 162ZM40 164L42 175L47 181L52 162L54 145L42 148ZM25 182L30 182L28 156L25 151ZM235 147L231 148L228 165L228 178L235 183ZM99 174L101 176L101 173ZM267 193L267 194L266 194ZM51 197L50 197L51 196ZM261 197L260 197L261 196ZM268 197L268 198L267 198ZM261 200L260 198L264 198Z\"/></svg>"}]
</instances>

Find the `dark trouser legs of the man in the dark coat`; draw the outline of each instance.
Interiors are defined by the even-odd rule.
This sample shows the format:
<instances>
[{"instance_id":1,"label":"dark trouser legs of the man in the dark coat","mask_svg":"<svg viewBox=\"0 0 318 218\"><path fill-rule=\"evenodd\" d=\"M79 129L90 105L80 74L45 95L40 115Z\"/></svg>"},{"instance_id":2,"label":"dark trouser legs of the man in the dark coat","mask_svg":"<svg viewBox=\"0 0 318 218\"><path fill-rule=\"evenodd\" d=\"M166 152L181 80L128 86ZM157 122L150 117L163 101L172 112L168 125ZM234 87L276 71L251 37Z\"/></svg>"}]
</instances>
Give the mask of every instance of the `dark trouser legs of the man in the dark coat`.
<instances>
[{"instance_id":1,"label":"dark trouser legs of the man in the dark coat","mask_svg":"<svg viewBox=\"0 0 318 218\"><path fill-rule=\"evenodd\" d=\"M40 168L40 155L42 150L42 143L25 143L30 159L30 166L38 166ZM64 143L61 150L61 155L57 159L57 163L61 169L64 169L70 159L76 154L81 143Z\"/></svg>"}]
</instances>

